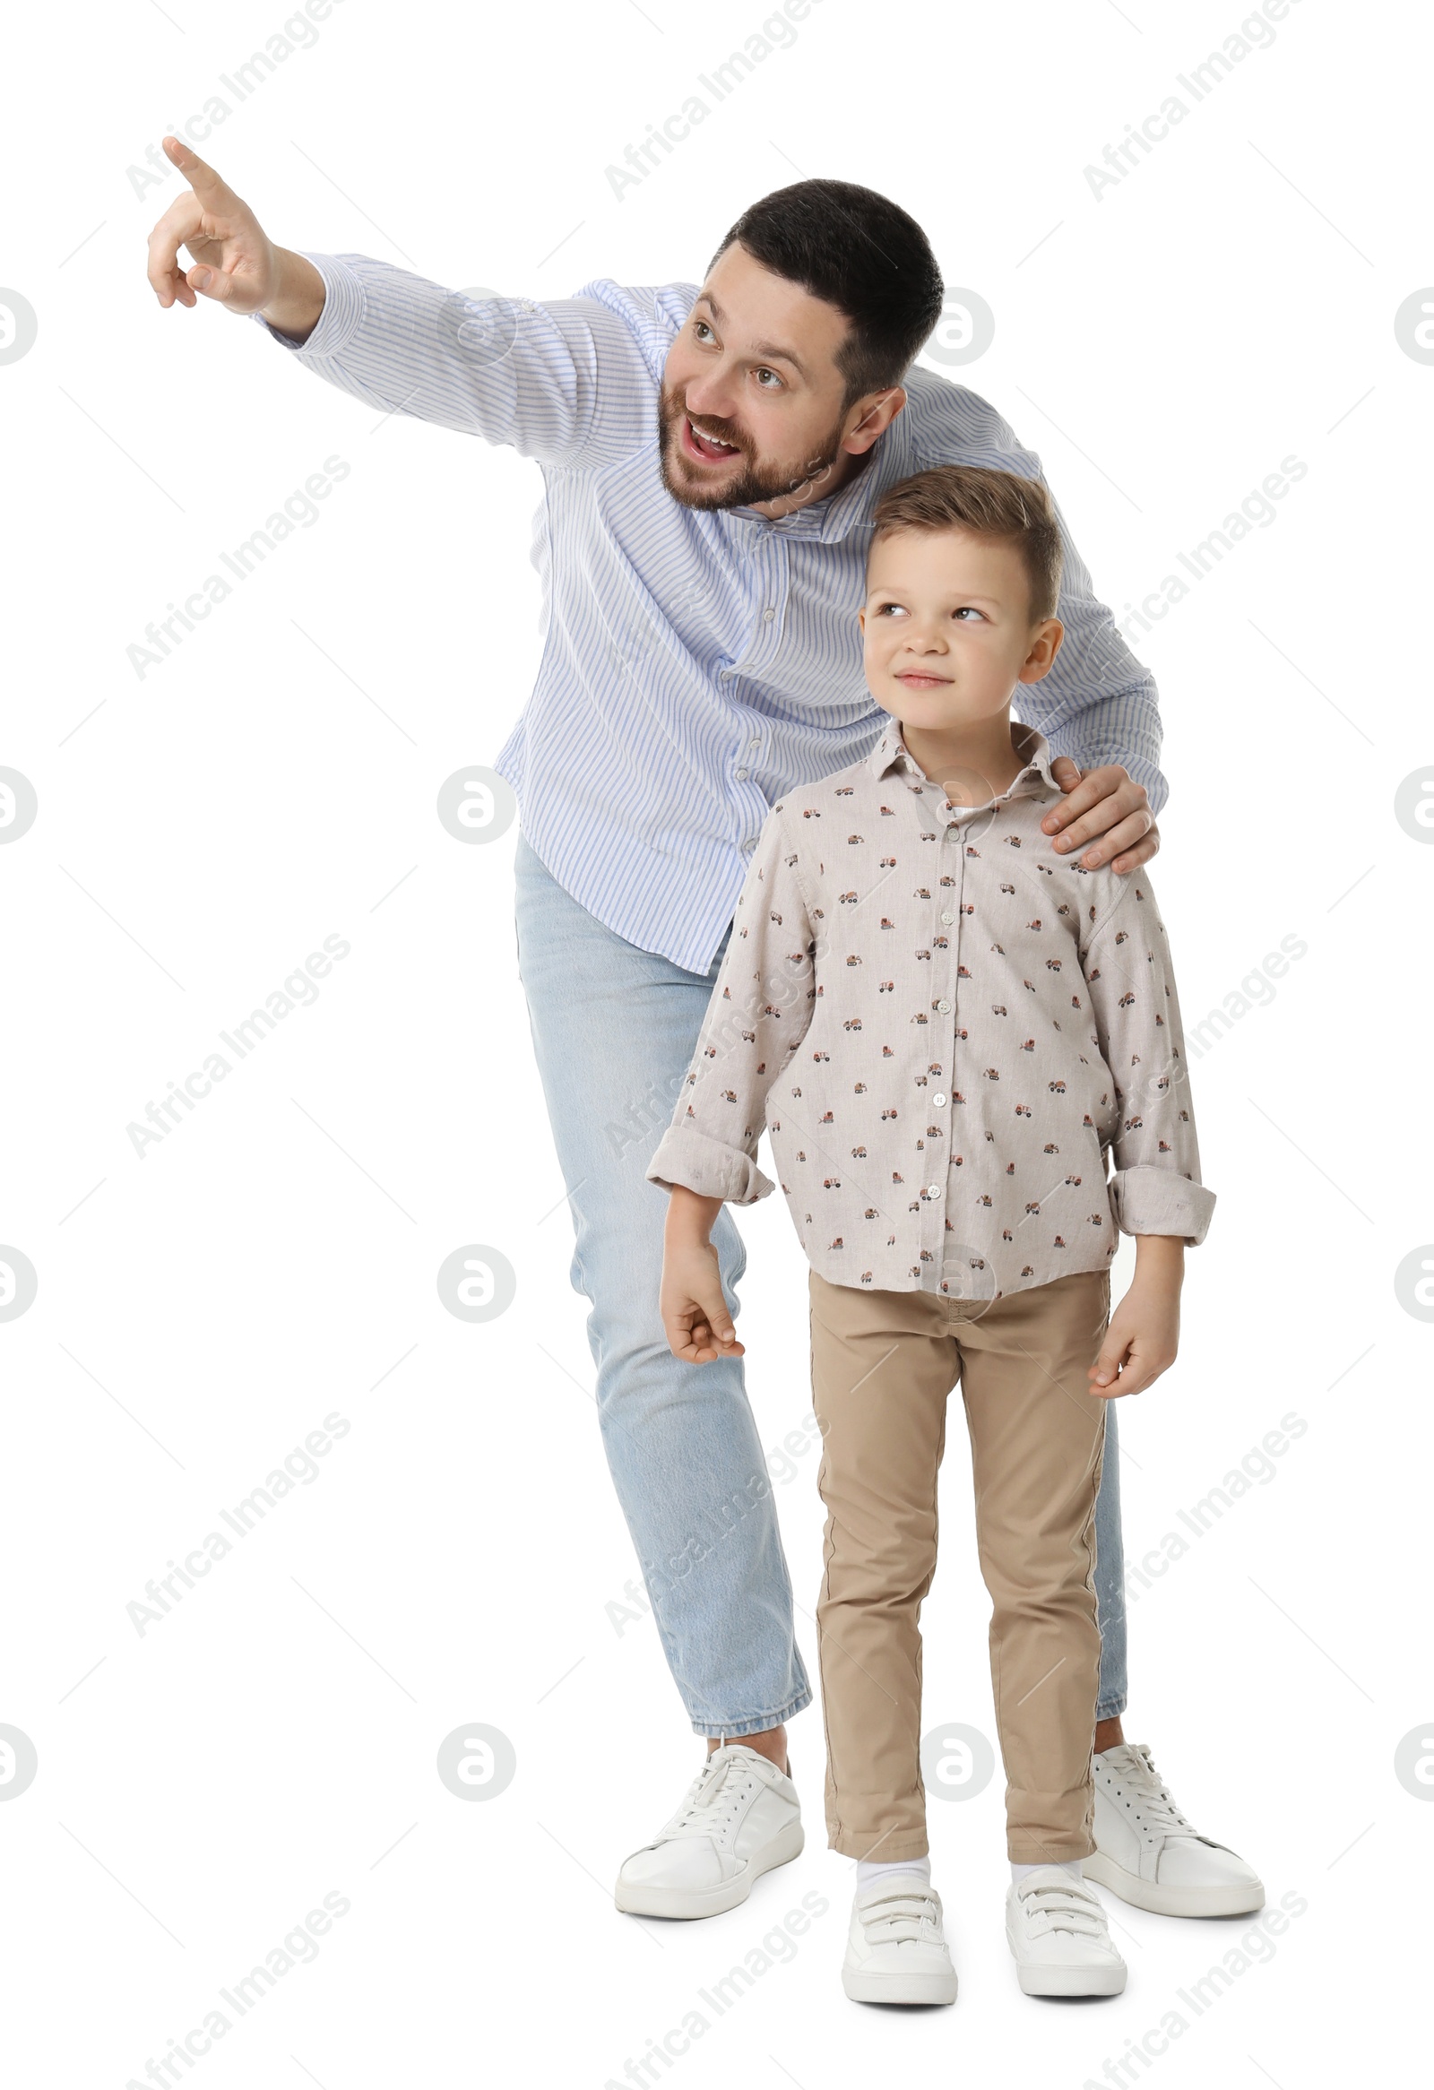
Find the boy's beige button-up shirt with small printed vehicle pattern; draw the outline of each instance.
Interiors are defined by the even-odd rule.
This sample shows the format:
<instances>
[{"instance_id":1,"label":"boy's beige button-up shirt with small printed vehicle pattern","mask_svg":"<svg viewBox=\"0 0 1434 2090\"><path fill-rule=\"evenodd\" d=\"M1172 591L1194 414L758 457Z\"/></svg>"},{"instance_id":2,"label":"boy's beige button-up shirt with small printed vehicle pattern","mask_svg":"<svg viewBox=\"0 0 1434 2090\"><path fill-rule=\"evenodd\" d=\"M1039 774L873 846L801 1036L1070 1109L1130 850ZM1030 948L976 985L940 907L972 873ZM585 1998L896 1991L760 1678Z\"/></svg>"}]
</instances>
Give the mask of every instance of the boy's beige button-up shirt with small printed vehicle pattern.
<instances>
[{"instance_id":1,"label":"boy's beige button-up shirt with small printed vehicle pattern","mask_svg":"<svg viewBox=\"0 0 1434 2090\"><path fill-rule=\"evenodd\" d=\"M748 865L646 1175L755 1204L765 1122L830 1283L993 1298L1210 1225L1150 878L1058 855L1049 746L1012 744L1016 782L953 807L893 719L771 807Z\"/></svg>"}]
</instances>

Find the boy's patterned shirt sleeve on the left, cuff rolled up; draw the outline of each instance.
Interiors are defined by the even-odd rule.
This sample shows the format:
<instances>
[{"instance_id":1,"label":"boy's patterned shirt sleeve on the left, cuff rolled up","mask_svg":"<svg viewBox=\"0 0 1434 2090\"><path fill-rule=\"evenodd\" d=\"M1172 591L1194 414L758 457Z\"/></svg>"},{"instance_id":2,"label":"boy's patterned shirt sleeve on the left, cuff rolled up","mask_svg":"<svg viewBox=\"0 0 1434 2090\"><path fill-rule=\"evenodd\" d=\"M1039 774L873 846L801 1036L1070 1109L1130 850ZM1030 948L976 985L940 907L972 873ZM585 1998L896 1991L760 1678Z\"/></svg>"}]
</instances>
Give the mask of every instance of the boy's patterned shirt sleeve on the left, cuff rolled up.
<instances>
[{"instance_id":1,"label":"boy's patterned shirt sleeve on the left, cuff rolled up","mask_svg":"<svg viewBox=\"0 0 1434 2090\"><path fill-rule=\"evenodd\" d=\"M757 1204L776 1189L757 1166L757 1143L767 1091L805 1039L813 1001L815 928L778 805L746 867L713 999L648 1183L727 1204Z\"/></svg>"}]
</instances>

